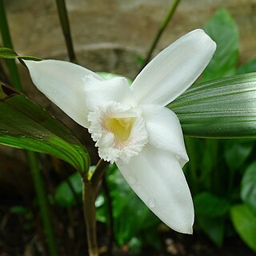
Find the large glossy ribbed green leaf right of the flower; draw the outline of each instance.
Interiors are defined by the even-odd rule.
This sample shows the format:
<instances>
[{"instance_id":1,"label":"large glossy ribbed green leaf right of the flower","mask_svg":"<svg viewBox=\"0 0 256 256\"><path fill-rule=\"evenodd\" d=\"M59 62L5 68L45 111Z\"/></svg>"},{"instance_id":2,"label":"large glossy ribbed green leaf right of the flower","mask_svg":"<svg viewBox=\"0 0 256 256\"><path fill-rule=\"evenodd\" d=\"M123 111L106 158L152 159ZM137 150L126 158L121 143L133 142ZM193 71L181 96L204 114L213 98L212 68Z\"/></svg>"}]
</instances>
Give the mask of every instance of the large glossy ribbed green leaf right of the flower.
<instances>
[{"instance_id":1,"label":"large glossy ribbed green leaf right of the flower","mask_svg":"<svg viewBox=\"0 0 256 256\"><path fill-rule=\"evenodd\" d=\"M178 115L185 135L256 137L256 73L191 86L168 107Z\"/></svg>"}]
</instances>

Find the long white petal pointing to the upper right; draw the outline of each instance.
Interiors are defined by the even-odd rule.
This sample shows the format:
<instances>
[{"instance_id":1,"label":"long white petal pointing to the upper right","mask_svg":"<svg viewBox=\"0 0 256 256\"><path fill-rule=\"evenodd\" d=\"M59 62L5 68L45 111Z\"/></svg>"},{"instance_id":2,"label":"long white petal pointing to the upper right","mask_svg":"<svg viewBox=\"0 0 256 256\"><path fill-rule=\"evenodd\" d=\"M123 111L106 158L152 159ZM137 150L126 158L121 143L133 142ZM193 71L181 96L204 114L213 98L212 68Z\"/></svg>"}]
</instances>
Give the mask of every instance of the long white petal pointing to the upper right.
<instances>
[{"instance_id":1,"label":"long white petal pointing to the upper right","mask_svg":"<svg viewBox=\"0 0 256 256\"><path fill-rule=\"evenodd\" d=\"M198 78L216 44L203 30L193 30L162 50L132 83L140 104L166 106Z\"/></svg>"}]
</instances>

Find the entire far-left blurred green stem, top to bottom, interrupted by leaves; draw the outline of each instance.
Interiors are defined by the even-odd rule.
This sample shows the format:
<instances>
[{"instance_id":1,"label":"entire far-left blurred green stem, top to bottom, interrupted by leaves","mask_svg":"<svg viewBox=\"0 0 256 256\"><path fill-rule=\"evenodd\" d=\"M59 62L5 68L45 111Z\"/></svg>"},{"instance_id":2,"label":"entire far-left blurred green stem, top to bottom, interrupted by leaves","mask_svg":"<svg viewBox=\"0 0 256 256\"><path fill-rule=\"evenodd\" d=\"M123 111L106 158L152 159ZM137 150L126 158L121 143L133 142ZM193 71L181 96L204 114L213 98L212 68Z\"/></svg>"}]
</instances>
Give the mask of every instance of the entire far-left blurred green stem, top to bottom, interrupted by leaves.
<instances>
[{"instance_id":1,"label":"entire far-left blurred green stem, top to bottom, interrupted by leaves","mask_svg":"<svg viewBox=\"0 0 256 256\"><path fill-rule=\"evenodd\" d=\"M14 49L10 38L10 30L6 18L6 11L3 0L0 0L0 30L2 34L3 46ZM18 74L18 66L13 59L6 60L10 72L12 85L16 90L23 91L22 83ZM57 245L54 238L53 226L50 222L50 211L47 205L47 195L44 190L42 176L39 170L38 155L34 152L26 151L26 158L30 166L30 173L34 181L34 189L37 194L39 210L42 218L42 226L46 235L46 244L51 256L58 255Z\"/></svg>"}]
</instances>

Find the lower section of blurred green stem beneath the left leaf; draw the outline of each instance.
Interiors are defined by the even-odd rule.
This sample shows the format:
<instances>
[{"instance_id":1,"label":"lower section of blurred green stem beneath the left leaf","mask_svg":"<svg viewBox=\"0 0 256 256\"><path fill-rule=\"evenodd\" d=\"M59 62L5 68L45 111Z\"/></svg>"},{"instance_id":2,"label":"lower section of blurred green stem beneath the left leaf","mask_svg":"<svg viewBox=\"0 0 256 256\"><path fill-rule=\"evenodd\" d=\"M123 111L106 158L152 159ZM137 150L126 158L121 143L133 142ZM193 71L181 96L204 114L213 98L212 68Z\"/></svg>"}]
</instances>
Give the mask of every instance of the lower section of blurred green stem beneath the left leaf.
<instances>
[{"instance_id":1,"label":"lower section of blurred green stem beneath the left leaf","mask_svg":"<svg viewBox=\"0 0 256 256\"><path fill-rule=\"evenodd\" d=\"M37 194L38 205L42 218L42 225L44 227L44 234L46 236L46 244L48 246L50 255L58 255L57 246L54 238L53 226L50 222L50 212L46 197L46 191L42 182L41 171L38 167L38 157L34 152L26 151L26 157L30 164L30 172L34 182L34 190Z\"/></svg>"}]
</instances>

